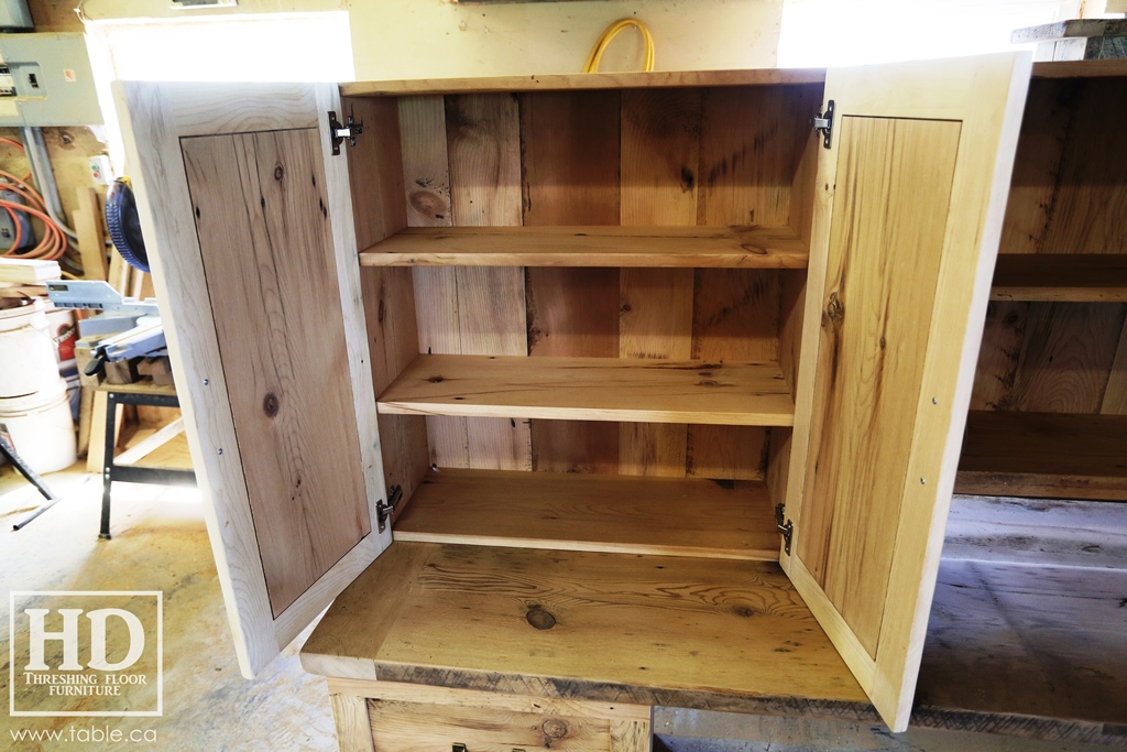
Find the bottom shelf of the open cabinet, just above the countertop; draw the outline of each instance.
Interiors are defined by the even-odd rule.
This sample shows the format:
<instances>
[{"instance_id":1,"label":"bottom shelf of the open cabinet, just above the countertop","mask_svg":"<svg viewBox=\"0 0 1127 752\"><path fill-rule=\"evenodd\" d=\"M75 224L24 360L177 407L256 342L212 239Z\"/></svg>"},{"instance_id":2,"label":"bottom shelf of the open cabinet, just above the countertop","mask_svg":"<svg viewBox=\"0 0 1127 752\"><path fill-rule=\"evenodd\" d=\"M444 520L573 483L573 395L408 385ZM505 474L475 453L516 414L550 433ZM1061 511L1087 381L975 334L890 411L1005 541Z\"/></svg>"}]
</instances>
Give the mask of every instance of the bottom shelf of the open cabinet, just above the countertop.
<instances>
[{"instance_id":1,"label":"bottom shelf of the open cabinet, just above the countertop","mask_svg":"<svg viewBox=\"0 0 1127 752\"><path fill-rule=\"evenodd\" d=\"M779 560L763 484L442 469L394 522L396 540Z\"/></svg>"}]
</instances>

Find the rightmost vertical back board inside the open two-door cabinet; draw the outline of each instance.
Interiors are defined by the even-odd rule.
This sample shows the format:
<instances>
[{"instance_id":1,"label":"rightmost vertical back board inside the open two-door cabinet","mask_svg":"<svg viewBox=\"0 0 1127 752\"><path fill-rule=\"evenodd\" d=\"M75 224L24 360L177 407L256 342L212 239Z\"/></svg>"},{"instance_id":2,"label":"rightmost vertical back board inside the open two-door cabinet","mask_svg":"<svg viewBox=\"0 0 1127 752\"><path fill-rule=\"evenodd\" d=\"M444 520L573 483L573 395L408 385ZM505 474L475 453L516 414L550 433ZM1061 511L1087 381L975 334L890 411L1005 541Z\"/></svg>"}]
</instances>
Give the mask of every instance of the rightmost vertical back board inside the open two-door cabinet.
<instances>
[{"instance_id":1,"label":"rightmost vertical back board inside the open two-door cabinet","mask_svg":"<svg viewBox=\"0 0 1127 752\"><path fill-rule=\"evenodd\" d=\"M820 95L820 86L702 92L698 224L808 223L805 210L792 212L791 191L804 157L810 169L809 130L802 125ZM807 194L800 189L798 197ZM779 274L698 269L694 286L693 357L780 360ZM760 428L690 426L687 454L691 476L763 479L767 435Z\"/></svg>"}]
</instances>

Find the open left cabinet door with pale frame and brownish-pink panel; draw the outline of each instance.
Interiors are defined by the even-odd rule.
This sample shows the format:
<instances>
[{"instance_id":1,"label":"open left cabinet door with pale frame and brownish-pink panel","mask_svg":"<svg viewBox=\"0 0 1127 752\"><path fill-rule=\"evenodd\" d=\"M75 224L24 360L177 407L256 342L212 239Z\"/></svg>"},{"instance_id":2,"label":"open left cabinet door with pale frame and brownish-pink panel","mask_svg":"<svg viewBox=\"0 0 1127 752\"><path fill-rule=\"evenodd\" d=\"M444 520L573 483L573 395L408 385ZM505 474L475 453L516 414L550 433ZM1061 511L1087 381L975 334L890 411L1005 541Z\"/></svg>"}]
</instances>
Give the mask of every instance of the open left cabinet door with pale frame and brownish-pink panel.
<instances>
[{"instance_id":1,"label":"open left cabinet door with pale frame and brownish-pink panel","mask_svg":"<svg viewBox=\"0 0 1127 752\"><path fill-rule=\"evenodd\" d=\"M334 85L116 85L239 661L252 676L391 542Z\"/></svg>"}]
</instances>

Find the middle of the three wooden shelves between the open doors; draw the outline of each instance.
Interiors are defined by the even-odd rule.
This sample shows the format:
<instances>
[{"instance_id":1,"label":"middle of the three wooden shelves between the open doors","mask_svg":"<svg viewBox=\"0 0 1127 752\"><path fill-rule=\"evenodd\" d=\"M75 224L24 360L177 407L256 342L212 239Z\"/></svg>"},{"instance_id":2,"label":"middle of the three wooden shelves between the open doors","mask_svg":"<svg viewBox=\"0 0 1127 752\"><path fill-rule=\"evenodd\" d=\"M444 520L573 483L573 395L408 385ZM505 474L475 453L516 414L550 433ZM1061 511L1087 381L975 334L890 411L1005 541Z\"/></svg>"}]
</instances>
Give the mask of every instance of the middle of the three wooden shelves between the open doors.
<instances>
[{"instance_id":1,"label":"middle of the three wooden shelves between the open doors","mask_svg":"<svg viewBox=\"0 0 1127 752\"><path fill-rule=\"evenodd\" d=\"M380 413L561 421L790 426L775 363L419 355Z\"/></svg>"}]
</instances>

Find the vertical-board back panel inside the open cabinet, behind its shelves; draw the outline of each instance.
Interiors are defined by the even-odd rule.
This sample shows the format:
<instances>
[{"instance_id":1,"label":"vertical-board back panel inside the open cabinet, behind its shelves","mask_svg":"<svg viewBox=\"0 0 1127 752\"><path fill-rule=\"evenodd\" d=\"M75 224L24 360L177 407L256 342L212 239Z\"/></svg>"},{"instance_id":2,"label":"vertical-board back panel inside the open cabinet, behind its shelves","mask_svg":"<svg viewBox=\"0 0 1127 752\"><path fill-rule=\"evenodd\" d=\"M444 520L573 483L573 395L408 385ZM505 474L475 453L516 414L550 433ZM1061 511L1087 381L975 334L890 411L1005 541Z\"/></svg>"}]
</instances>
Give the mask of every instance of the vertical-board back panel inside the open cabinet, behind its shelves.
<instances>
[{"instance_id":1,"label":"vertical-board back panel inside the open cabinet, behind its shelves","mask_svg":"<svg viewBox=\"0 0 1127 752\"><path fill-rule=\"evenodd\" d=\"M801 224L792 184L819 99L820 86L405 97L407 223ZM779 361L783 310L792 324L801 295L802 277L788 274L416 267L419 352ZM735 479L764 477L770 434L518 418L426 423L431 461L441 467Z\"/></svg>"}]
</instances>

